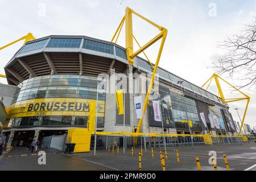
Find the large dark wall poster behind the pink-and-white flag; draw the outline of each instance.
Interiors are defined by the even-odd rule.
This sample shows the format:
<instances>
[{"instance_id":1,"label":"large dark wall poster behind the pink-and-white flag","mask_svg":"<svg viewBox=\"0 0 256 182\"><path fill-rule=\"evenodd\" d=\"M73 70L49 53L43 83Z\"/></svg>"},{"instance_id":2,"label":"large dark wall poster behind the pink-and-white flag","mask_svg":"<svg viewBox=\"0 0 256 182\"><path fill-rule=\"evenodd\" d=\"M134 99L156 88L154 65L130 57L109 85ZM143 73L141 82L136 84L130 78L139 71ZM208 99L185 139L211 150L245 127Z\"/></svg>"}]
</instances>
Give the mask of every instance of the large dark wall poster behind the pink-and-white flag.
<instances>
[{"instance_id":1,"label":"large dark wall poster behind the pink-and-white flag","mask_svg":"<svg viewBox=\"0 0 256 182\"><path fill-rule=\"evenodd\" d=\"M150 126L162 127L162 122L155 118L153 101L159 101L159 109L163 119L164 127L175 127L174 118L172 117L171 96L169 88L159 85L159 92L154 93L157 99L148 101L148 119ZM155 97L154 97L155 98Z\"/></svg>"}]
</instances>

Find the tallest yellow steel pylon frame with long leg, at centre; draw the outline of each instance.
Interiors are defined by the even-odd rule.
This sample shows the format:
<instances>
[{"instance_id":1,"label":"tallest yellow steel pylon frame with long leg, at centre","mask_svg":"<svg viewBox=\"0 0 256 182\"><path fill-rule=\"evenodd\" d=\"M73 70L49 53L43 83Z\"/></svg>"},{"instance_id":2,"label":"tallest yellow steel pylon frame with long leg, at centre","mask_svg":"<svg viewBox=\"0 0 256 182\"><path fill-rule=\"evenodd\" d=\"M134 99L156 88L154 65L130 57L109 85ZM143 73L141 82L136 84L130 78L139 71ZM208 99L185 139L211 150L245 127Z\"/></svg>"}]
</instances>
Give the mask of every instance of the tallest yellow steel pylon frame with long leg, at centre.
<instances>
[{"instance_id":1,"label":"tallest yellow steel pylon frame with long leg, at centre","mask_svg":"<svg viewBox=\"0 0 256 182\"><path fill-rule=\"evenodd\" d=\"M160 33L158 35L156 35L155 38L153 38L150 41L148 41L146 44L144 44L144 46L141 47L138 44L139 45L139 49L137 51L135 51L135 52L134 52L134 47L133 47L133 38L135 39L135 37L133 35L133 16L132 16L133 14L137 15L139 18L143 19L147 23L150 23L152 26L158 28L159 31L160 31ZM112 38L112 42L113 42L115 36L119 35L119 32L121 31L122 24L123 24L124 21L125 21L125 46L126 46L126 54L127 54L127 59L129 61L129 64L131 64L131 65L133 65L134 57L139 55L139 53L142 53L145 49L150 47L152 44L157 42L159 39L162 39L162 42L160 44L160 48L159 48L159 51L158 51L158 56L156 58L155 66L153 68L150 85L148 86L146 98L145 98L145 101L144 101L144 104L143 104L143 117L144 117L144 113L145 113L145 111L147 109L148 98L150 96L150 93L151 93L151 90L152 90L152 85L153 85L154 80L155 80L155 73L156 73L156 71L158 69L159 60L160 60L160 57L161 57L161 54L162 54L162 51L163 51L163 46L164 46L164 42L166 41L166 36L167 36L167 32L168 31L167 31L166 28L159 26L158 24L152 22L151 20L145 18L144 16L136 13L134 10L130 9L129 7L126 7L125 16L123 16L123 19L121 20L121 23L119 24L117 30L115 31L115 34L114 34L114 36ZM135 39L135 42L137 42L136 39ZM147 58L147 60L149 61L148 58ZM150 65L151 65L151 67L153 67L153 65L151 63L150 63ZM139 123L138 123L138 127L137 127L136 133L140 133L141 126L142 126L142 121L143 121L143 118L139 119ZM137 138L135 138L135 143L137 143Z\"/></svg>"}]
</instances>

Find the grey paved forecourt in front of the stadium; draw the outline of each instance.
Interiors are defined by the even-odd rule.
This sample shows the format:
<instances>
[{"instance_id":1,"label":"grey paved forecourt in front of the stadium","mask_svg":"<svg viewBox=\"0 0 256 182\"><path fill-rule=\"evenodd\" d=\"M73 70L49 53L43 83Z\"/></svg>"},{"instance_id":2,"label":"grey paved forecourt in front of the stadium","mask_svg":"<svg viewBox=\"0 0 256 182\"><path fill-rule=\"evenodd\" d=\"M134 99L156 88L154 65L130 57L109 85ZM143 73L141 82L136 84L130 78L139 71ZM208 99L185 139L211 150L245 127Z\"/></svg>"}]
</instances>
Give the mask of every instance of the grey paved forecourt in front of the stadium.
<instances>
[{"instance_id":1,"label":"grey paved forecourt in front of the stadium","mask_svg":"<svg viewBox=\"0 0 256 182\"><path fill-rule=\"evenodd\" d=\"M180 164L177 164L176 149L179 150ZM42 149L40 149L42 150ZM197 170L196 156L200 158L201 169L213 171L213 166L209 164L209 152L216 151L217 169L225 171L223 154L226 154L230 170L256 170L256 144L242 144L233 146L200 146L196 148L167 148L168 160L166 170L191 171ZM112 153L106 150L98 150L97 156L93 156L93 151L89 153L76 153L66 155L61 152L46 150L46 165L39 165L39 156L31 154L26 148L17 147L0 159L0 170L138 170L138 152L140 148L135 148L134 155L131 150L126 150L125 155L119 148ZM154 159L151 157L151 150L143 150L142 170L155 171L162 170L159 156L160 148L154 149ZM162 152L164 150L162 148Z\"/></svg>"}]
</instances>

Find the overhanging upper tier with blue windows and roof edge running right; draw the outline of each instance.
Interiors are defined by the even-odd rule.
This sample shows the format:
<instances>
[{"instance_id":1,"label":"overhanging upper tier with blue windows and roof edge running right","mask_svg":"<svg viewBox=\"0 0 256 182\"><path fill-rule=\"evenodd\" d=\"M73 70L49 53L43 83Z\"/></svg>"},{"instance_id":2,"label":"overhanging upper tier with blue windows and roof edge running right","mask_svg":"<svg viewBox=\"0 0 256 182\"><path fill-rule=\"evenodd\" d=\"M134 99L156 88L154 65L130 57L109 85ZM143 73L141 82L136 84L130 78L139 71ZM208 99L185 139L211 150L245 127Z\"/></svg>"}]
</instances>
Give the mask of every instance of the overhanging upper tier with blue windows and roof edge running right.
<instances>
[{"instance_id":1,"label":"overhanging upper tier with blue windows and roof edge running right","mask_svg":"<svg viewBox=\"0 0 256 182\"><path fill-rule=\"evenodd\" d=\"M7 82L18 85L29 77L50 74L98 75L115 69L123 73L128 65L126 49L112 42L87 36L51 35L24 44L5 66ZM148 61L135 57L134 67L141 72L152 73ZM201 89L171 72L158 68L159 78L180 88L183 81L187 94L199 100L223 105L214 94Z\"/></svg>"}]
</instances>

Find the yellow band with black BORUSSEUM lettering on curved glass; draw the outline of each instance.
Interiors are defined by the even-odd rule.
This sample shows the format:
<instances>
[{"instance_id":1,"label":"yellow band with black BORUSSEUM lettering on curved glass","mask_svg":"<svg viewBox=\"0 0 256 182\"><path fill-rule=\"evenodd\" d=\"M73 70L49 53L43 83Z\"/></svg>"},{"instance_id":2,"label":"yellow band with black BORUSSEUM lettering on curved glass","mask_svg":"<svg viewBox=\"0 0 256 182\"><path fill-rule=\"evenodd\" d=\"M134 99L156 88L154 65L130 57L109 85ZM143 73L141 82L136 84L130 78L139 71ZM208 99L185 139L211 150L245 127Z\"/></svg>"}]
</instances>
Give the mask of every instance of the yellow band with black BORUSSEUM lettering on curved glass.
<instances>
[{"instance_id":1,"label":"yellow band with black BORUSSEUM lettering on curved glass","mask_svg":"<svg viewBox=\"0 0 256 182\"><path fill-rule=\"evenodd\" d=\"M7 119L40 115L89 115L89 104L95 100L83 98L39 98L11 105ZM105 101L98 101L98 117L105 115Z\"/></svg>"}]
</instances>

